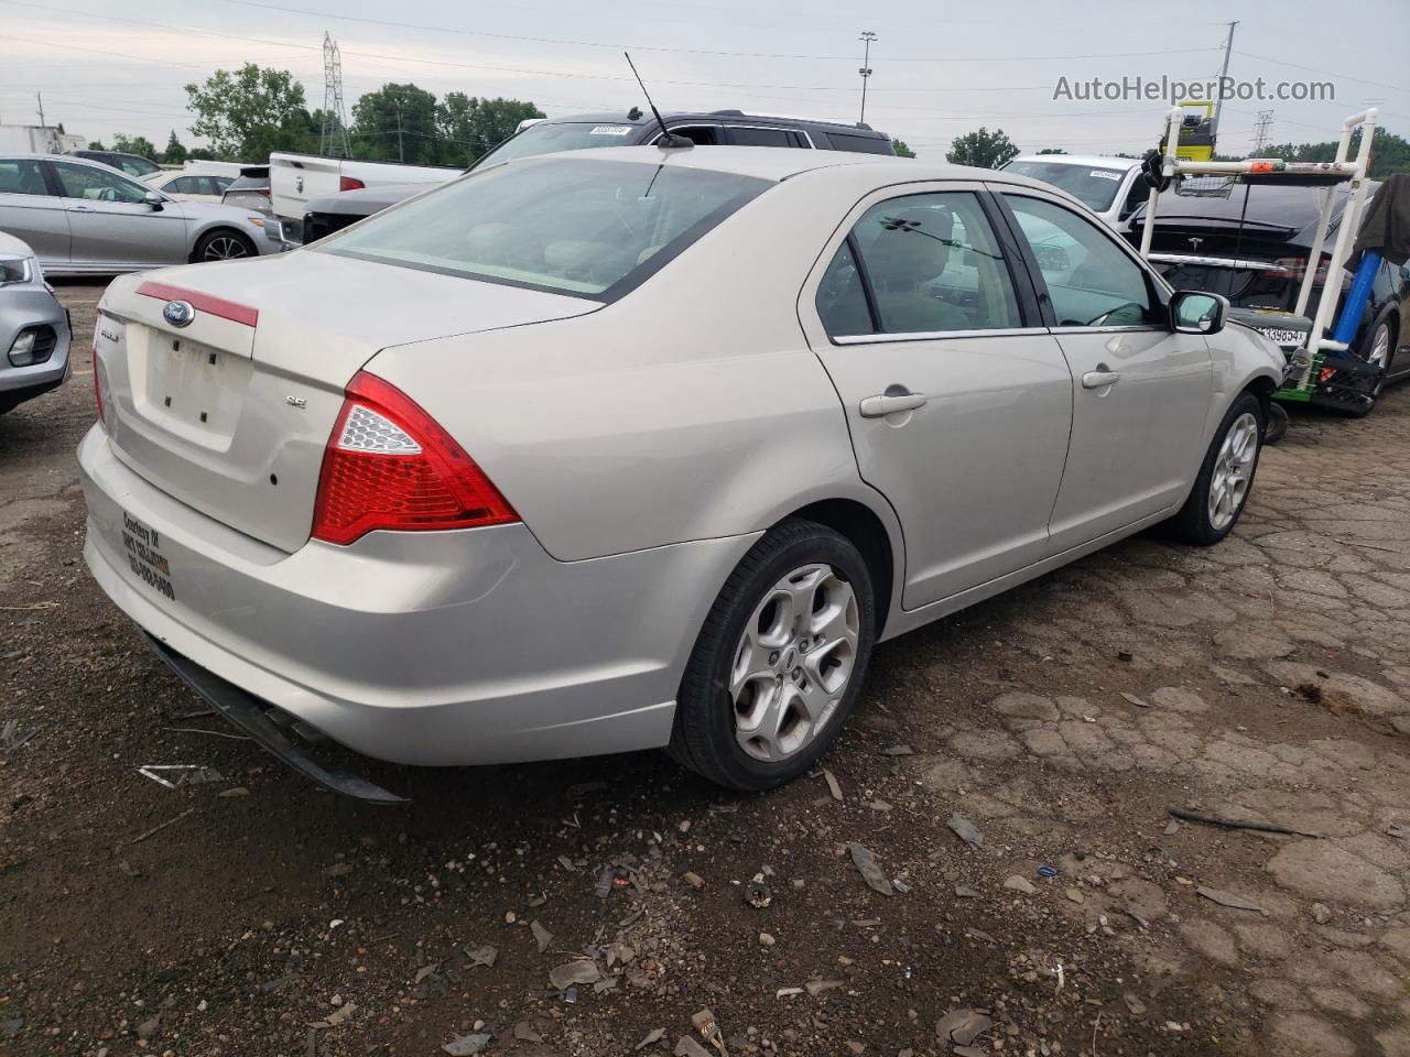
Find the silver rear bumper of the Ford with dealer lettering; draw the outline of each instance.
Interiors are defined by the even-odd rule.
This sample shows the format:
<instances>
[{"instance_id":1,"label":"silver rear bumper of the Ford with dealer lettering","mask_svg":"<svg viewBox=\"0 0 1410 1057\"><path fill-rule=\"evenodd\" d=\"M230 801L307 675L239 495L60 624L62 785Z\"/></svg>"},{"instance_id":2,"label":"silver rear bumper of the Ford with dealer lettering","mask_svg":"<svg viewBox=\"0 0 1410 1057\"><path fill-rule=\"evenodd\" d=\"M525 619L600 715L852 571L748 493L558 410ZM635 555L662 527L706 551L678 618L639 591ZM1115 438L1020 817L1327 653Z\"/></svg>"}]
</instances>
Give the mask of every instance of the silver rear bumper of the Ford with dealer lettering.
<instances>
[{"instance_id":1,"label":"silver rear bumper of the Ford with dealer lettering","mask_svg":"<svg viewBox=\"0 0 1410 1057\"><path fill-rule=\"evenodd\" d=\"M102 427L79 465L85 560L144 631L336 741L403 764L664 746L705 613L757 538L560 562L510 524L285 554L148 485ZM154 544L137 545L142 528Z\"/></svg>"}]
</instances>

